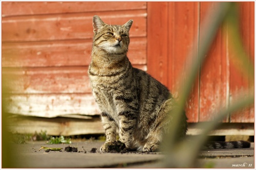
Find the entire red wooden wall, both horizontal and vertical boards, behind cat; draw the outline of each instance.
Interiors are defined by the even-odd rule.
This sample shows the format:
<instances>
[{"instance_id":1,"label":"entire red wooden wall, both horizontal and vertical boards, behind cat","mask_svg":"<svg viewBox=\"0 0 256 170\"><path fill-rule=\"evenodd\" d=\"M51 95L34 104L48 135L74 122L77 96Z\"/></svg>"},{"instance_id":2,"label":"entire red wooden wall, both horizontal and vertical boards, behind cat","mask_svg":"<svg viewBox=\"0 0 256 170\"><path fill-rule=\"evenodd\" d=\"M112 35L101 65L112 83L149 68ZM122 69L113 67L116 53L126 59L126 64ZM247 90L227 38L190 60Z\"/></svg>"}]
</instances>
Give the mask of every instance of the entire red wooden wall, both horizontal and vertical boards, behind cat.
<instances>
[{"instance_id":1,"label":"entire red wooden wall, both horizontal and vertical boards, behind cat","mask_svg":"<svg viewBox=\"0 0 256 170\"><path fill-rule=\"evenodd\" d=\"M54 117L98 114L87 69L92 46L92 17L106 23L134 23L129 58L175 94L205 13L215 3L199 2L2 2L3 80L12 87L9 112ZM254 63L254 3L240 3L241 34ZM249 82L232 66L220 30L200 79L187 101L189 122L209 120L218 104ZM218 68L218 69L217 69ZM14 79L15 78L15 79ZM4 92L4 91L3 91ZM226 122L253 122L254 109Z\"/></svg>"}]
</instances>

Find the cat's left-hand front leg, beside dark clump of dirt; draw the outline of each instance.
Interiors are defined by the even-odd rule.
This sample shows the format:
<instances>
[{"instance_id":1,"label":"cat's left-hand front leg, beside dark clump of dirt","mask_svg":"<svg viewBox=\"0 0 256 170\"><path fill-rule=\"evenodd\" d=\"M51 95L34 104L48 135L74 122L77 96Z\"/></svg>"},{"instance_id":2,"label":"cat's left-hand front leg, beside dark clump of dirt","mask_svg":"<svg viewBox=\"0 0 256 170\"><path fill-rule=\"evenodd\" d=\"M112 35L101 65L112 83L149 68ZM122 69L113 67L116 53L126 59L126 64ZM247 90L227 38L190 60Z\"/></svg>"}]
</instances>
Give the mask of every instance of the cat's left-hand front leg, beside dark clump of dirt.
<instances>
[{"instance_id":1,"label":"cat's left-hand front leg, beside dark clump of dirt","mask_svg":"<svg viewBox=\"0 0 256 170\"><path fill-rule=\"evenodd\" d=\"M112 117L109 114L102 112L101 113L101 120L103 123L103 128L105 130L106 141L100 147L101 152L106 152L105 146L107 143L116 141L116 130L117 125Z\"/></svg>"}]
</instances>

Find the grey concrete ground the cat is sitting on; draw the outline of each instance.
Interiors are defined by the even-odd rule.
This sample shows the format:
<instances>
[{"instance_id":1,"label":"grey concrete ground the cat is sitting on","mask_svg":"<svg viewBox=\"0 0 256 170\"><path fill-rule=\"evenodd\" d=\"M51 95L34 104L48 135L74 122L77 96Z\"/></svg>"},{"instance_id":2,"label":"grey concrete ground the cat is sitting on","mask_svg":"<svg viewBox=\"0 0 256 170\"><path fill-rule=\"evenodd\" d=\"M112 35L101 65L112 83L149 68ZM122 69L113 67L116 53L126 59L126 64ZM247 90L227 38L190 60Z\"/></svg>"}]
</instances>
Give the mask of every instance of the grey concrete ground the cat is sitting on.
<instances>
[{"instance_id":1,"label":"grey concrete ground the cat is sitting on","mask_svg":"<svg viewBox=\"0 0 256 170\"><path fill-rule=\"evenodd\" d=\"M45 141L28 142L12 146L11 164L14 168L161 168L164 155L161 153L100 153L102 141L77 141L70 144L78 152L65 152L69 144L46 144ZM63 148L61 152L40 150L41 145ZM96 148L96 153L90 153ZM86 151L86 152L85 152ZM200 167L254 168L254 143L247 149L204 150L198 158Z\"/></svg>"}]
</instances>

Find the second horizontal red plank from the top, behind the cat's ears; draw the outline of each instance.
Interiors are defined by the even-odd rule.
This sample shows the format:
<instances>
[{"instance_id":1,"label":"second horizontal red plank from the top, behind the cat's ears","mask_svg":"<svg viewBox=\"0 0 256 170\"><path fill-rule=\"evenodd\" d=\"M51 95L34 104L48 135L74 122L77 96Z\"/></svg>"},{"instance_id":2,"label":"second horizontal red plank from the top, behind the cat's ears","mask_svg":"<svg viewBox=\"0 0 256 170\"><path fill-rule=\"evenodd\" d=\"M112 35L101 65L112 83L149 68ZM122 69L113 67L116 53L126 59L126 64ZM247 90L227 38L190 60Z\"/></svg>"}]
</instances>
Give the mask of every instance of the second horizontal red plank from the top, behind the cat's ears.
<instances>
[{"instance_id":1,"label":"second horizontal red plank from the top, behind the cat's ears","mask_svg":"<svg viewBox=\"0 0 256 170\"><path fill-rule=\"evenodd\" d=\"M122 25L134 20L131 37L146 36L146 11L124 10L97 13L103 21ZM93 37L91 13L32 15L2 18L2 41L49 41L91 39Z\"/></svg>"}]
</instances>

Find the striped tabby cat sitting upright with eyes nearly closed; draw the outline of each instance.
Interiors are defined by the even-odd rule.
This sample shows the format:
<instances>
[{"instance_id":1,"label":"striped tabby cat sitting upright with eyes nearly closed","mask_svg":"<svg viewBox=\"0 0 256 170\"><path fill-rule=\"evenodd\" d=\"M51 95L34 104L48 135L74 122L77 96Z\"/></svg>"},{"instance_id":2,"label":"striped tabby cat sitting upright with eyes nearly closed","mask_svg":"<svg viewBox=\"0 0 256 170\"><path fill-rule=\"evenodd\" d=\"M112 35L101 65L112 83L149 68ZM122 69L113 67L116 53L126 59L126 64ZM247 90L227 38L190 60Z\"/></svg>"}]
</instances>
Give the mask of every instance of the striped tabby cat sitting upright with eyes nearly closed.
<instances>
[{"instance_id":1,"label":"striped tabby cat sitting upright with eyes nearly closed","mask_svg":"<svg viewBox=\"0 0 256 170\"><path fill-rule=\"evenodd\" d=\"M145 71L134 68L126 56L132 23L129 20L122 26L107 25L97 15L93 17L88 74L106 135L101 152L106 152L106 144L116 141L117 133L127 149L157 151L173 121L172 94ZM177 138L185 137L186 131L184 112Z\"/></svg>"}]
</instances>

